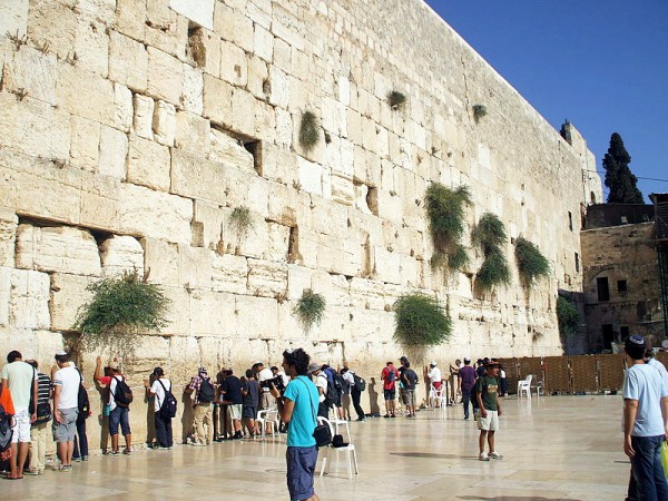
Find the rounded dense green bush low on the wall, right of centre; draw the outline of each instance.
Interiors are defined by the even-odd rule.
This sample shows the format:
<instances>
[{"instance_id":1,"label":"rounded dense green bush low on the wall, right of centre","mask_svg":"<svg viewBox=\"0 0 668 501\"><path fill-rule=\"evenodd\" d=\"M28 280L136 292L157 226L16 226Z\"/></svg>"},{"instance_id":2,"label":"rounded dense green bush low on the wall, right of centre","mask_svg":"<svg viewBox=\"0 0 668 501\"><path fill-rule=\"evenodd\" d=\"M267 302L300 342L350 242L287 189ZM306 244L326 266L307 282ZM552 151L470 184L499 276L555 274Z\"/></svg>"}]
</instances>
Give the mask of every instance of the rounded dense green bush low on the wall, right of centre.
<instances>
[{"instance_id":1,"label":"rounded dense green bush low on the wall, right of centre","mask_svg":"<svg viewBox=\"0 0 668 501\"><path fill-rule=\"evenodd\" d=\"M405 346L431 346L452 334L452 320L439 299L406 294L394 303L394 340Z\"/></svg>"}]
</instances>

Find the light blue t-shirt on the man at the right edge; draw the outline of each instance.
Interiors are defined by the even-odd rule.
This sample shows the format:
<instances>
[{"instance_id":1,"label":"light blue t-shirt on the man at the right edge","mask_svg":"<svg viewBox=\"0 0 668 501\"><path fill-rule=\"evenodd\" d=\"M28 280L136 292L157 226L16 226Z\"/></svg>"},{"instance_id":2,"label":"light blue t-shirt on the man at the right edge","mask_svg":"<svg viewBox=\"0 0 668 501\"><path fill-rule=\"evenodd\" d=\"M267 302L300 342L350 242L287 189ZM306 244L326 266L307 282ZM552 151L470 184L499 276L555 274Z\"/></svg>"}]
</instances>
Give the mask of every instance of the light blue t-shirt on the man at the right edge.
<instances>
[{"instance_id":1,"label":"light blue t-shirt on the man at the right edge","mask_svg":"<svg viewBox=\"0 0 668 501\"><path fill-rule=\"evenodd\" d=\"M647 364L635 364L623 376L621 393L625 399L638 401L633 436L658 436L666 433L661 414L661 399L668 396L668 386L661 373Z\"/></svg>"}]
</instances>

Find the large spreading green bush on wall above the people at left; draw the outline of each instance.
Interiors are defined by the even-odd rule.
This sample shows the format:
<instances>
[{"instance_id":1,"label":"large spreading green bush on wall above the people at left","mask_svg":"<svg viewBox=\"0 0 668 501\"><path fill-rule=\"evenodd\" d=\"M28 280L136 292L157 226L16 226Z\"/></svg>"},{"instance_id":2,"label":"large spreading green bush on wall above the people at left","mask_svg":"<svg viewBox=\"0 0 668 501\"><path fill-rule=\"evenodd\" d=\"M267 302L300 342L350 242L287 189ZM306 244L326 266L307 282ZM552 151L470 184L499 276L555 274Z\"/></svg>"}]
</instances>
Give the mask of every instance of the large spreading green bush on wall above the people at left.
<instances>
[{"instance_id":1,"label":"large spreading green bush on wall above the people at left","mask_svg":"<svg viewBox=\"0 0 668 501\"><path fill-rule=\"evenodd\" d=\"M146 331L159 332L167 325L170 301L159 286L148 284L138 272L124 272L88 285L91 299L77 312L73 330L87 351L106 350L111 355L131 357L138 336Z\"/></svg>"}]
</instances>

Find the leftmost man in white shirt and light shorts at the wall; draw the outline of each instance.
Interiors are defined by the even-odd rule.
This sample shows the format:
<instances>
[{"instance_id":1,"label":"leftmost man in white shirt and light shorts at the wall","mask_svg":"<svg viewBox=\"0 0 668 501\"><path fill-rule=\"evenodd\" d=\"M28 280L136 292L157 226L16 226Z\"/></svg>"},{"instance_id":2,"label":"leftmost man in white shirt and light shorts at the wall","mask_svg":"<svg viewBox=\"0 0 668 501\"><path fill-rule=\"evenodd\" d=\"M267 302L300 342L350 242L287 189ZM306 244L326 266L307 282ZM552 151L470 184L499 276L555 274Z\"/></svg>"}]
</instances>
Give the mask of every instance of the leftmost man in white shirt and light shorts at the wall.
<instances>
[{"instance_id":1,"label":"leftmost man in white shirt and light shorts at the wall","mask_svg":"<svg viewBox=\"0 0 668 501\"><path fill-rule=\"evenodd\" d=\"M37 419L37 371L23 362L19 352L12 351L7 355L7 365L2 367L0 377L2 386L8 387L11 393L16 411L8 478L22 479L30 446L30 423ZM29 412L30 400L35 403L32 415Z\"/></svg>"}]
</instances>

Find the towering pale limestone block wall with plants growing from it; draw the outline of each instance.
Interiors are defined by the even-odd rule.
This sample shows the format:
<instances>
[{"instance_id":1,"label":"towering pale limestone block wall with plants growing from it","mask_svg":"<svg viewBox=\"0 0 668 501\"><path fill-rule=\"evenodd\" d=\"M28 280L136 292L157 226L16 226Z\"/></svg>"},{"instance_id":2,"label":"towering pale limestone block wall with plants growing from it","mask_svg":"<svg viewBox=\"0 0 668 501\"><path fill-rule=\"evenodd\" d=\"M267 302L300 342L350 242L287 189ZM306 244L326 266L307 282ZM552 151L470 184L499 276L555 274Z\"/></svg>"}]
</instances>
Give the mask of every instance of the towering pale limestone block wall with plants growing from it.
<instances>
[{"instance_id":1,"label":"towering pale limestone block wall with plants growing from it","mask_svg":"<svg viewBox=\"0 0 668 501\"><path fill-rule=\"evenodd\" d=\"M128 369L177 382L298 345L375 374L403 351L391 310L414 291L454 322L430 358L561 353L557 291L581 287L577 220L601 198L593 155L424 2L16 0L0 33L0 352L49 361L78 335L86 286L137 268L173 304ZM487 210L504 222L509 286L474 293L473 249L464 273L431 269L432 181L470 187L469 229ZM519 235L552 265L529 291ZM305 288L327 302L310 333L292 313Z\"/></svg>"}]
</instances>

